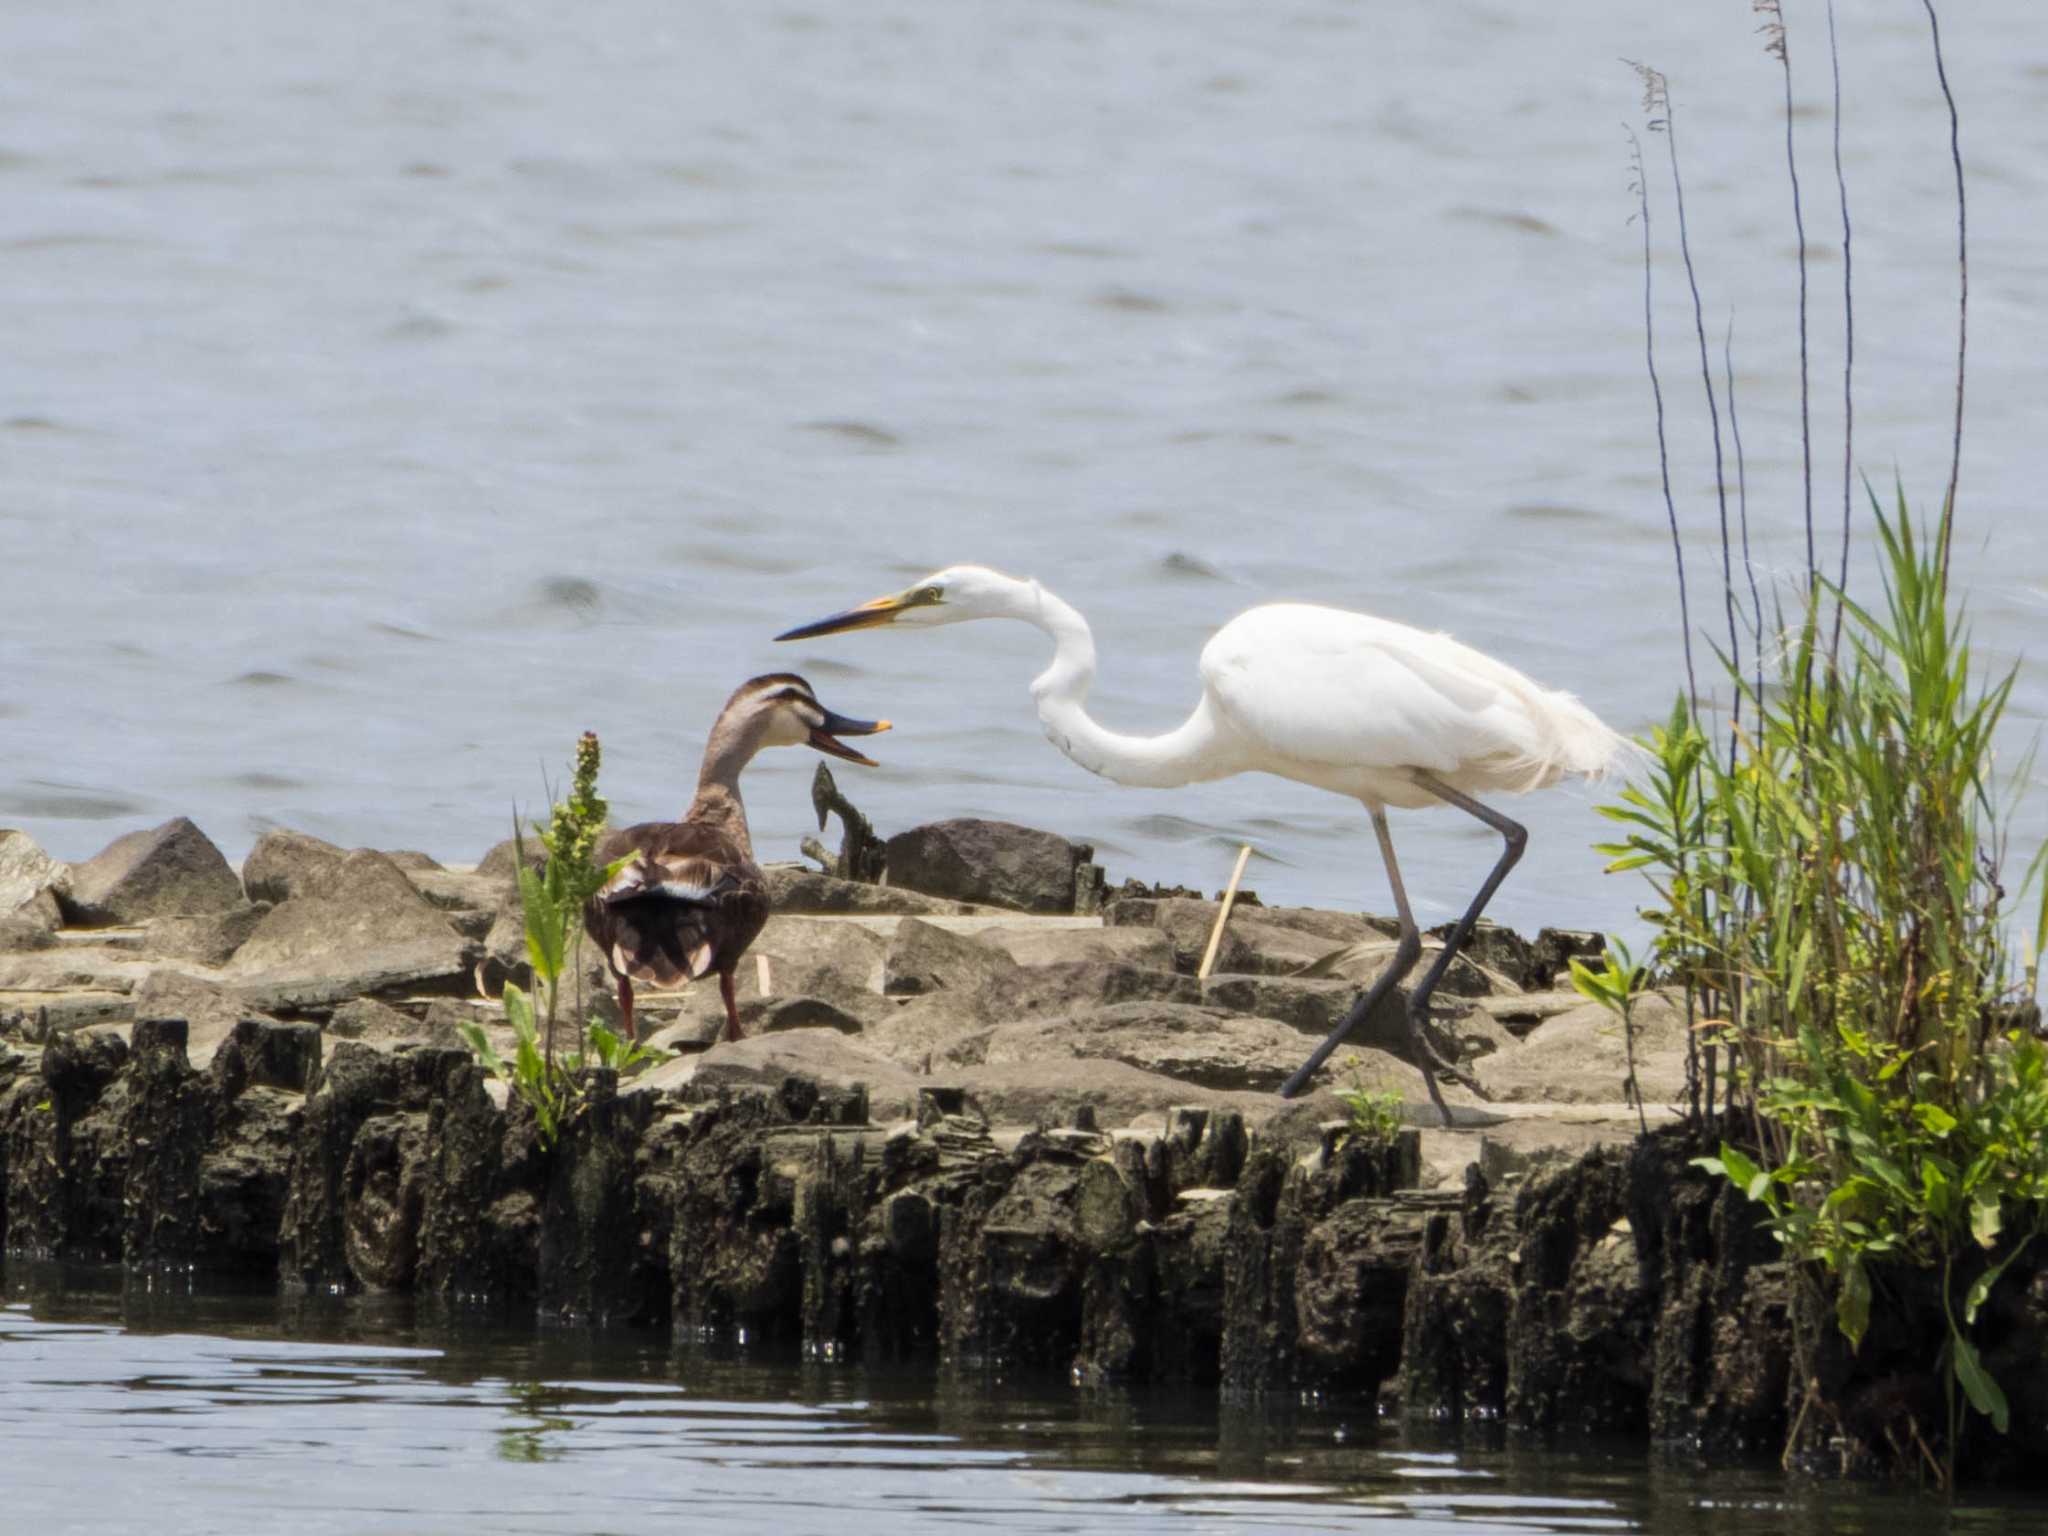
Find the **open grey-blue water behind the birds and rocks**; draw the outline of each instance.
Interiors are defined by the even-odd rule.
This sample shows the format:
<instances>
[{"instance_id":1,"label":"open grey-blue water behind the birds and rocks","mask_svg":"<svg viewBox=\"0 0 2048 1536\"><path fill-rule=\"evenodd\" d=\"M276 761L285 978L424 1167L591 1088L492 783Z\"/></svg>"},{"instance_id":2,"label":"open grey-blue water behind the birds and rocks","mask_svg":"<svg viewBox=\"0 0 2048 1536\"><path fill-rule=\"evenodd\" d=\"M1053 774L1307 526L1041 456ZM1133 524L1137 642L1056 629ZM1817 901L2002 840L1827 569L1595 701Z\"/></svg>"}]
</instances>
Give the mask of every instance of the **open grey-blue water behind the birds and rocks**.
<instances>
[{"instance_id":1,"label":"open grey-blue water behind the birds and rocks","mask_svg":"<svg viewBox=\"0 0 2048 1536\"><path fill-rule=\"evenodd\" d=\"M2048 12L1946 23L1972 170L1958 569L1985 657L2034 649L2017 750L2048 713ZM1919 6L1843 25L1858 463L1927 504L1946 117ZM975 559L1096 621L1122 729L1176 723L1200 641L1268 598L1452 629L1626 729L1661 715L1618 55L1673 76L1763 580L1802 561L1780 84L1747 0L0 0L0 823L59 856L188 813L236 858L272 823L475 858L584 727L625 817L670 811L729 688L795 664L899 723L881 772L842 774L885 829L1014 817L1200 885L1249 838L1268 899L1382 905L1356 807L1059 758L1036 635L768 637ZM1827 522L1823 59L1794 33ZM1665 250L1708 623L1679 276ZM809 772L756 770L766 852L795 856ZM2030 788L2021 854L2048 834ZM1528 817L1499 915L1620 922L1638 891L1597 877L1587 797ZM1397 836L1432 918L1493 856L1462 819Z\"/></svg>"}]
</instances>

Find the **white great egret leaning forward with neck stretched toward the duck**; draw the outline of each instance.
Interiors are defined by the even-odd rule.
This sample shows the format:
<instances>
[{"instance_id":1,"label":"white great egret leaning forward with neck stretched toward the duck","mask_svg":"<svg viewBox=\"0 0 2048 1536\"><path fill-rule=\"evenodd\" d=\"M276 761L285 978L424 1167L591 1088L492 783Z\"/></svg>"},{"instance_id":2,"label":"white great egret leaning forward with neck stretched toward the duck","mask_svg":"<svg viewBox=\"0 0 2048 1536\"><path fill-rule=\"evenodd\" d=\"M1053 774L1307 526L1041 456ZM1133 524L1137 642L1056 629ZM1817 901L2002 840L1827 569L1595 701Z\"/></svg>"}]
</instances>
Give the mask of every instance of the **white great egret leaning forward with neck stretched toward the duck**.
<instances>
[{"instance_id":1,"label":"white great egret leaning forward with neck stretched toward the duck","mask_svg":"<svg viewBox=\"0 0 2048 1536\"><path fill-rule=\"evenodd\" d=\"M1599 774L1624 750L1622 737L1571 694L1540 688L1448 635L1307 602L1251 608L1219 629L1202 647L1202 696L1194 713L1155 737L1118 735L1087 715L1087 688L1096 678L1087 621L1038 582L983 565L950 565L903 592L776 639L967 618L1018 618L1053 637L1053 666L1038 674L1030 692L1047 737L1090 772L1145 788L1266 772L1364 803L1386 862L1401 938L1386 971L1280 1087L1286 1098L1307 1085L1421 956L1386 807L1456 805L1501 834L1507 846L1499 862L1407 1006L1415 1065L1448 1124L1450 1110L1430 1065L1454 1069L1436 1057L1423 1034L1430 993L1528 842L1518 821L1473 795L1518 795L1567 774Z\"/></svg>"}]
</instances>

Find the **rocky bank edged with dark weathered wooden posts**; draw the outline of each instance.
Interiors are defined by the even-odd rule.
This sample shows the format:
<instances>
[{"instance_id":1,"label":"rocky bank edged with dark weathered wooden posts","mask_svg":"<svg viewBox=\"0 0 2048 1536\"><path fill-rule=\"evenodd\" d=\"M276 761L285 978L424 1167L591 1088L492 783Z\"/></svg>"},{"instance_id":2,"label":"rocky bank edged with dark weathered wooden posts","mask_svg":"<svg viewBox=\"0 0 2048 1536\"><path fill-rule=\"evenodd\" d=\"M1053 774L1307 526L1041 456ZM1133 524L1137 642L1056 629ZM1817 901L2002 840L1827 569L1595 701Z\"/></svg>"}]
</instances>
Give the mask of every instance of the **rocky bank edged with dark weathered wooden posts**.
<instances>
[{"instance_id":1,"label":"rocky bank edged with dark weathered wooden posts","mask_svg":"<svg viewBox=\"0 0 2048 1536\"><path fill-rule=\"evenodd\" d=\"M0 834L0 905L35 885L0 918L4 1247L1784 1446L1796 1276L1659 1108L1681 1083L1669 1008L1636 1042L1661 1126L1638 1135L1612 1024L1554 985L1587 936L1485 930L1460 961L1442 1042L1491 1102L1446 1083L1438 1128L1393 1010L1319 1092L1272 1094L1386 926L1241 905L1200 981L1217 903L1102 891L1049 834L920 836L958 870L778 868L750 1038L711 1044L715 997L651 1006L678 1055L586 1073L545 1147L455 1044L504 1028L477 991L518 971L508 848L451 870L268 834L238 877L182 821L78 868ZM1018 885L993 905L999 866L1034 866L1047 905ZM1346 1081L1399 1090L1411 1124L1346 1135ZM2013 1350L2040 1339L2036 1319ZM2015 1401L2009 1450L2042 1425L2048 1403Z\"/></svg>"}]
</instances>

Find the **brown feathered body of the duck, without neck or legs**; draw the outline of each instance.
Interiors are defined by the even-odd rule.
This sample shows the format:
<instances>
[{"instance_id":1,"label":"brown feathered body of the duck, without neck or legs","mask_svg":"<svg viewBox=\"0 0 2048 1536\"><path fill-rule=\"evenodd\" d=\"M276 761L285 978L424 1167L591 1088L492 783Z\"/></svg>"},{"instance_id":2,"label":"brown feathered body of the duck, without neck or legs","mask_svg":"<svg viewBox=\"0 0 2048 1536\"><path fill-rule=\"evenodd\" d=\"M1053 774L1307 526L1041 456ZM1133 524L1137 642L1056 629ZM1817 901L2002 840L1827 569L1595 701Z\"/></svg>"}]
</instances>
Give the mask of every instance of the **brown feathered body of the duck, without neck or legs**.
<instances>
[{"instance_id":1,"label":"brown feathered body of the duck, without neck or legs","mask_svg":"<svg viewBox=\"0 0 2048 1536\"><path fill-rule=\"evenodd\" d=\"M678 987L731 971L768 922L768 881L745 848L690 821L610 834L596 862L633 856L584 907L612 975Z\"/></svg>"}]
</instances>

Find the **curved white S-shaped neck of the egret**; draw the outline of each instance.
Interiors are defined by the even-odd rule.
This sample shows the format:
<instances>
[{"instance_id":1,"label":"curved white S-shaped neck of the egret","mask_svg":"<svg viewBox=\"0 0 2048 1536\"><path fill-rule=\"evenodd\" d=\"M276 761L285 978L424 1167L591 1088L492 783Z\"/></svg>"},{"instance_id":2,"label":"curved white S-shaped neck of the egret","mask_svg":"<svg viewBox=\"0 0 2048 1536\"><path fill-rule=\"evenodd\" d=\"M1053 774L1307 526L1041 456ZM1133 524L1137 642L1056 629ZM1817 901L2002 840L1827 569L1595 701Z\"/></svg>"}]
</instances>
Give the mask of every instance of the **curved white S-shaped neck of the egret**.
<instances>
[{"instance_id":1,"label":"curved white S-shaped neck of the egret","mask_svg":"<svg viewBox=\"0 0 2048 1536\"><path fill-rule=\"evenodd\" d=\"M1096 637L1087 621L1036 582L1018 582L1016 618L1053 637L1053 666L1030 686L1047 739L1092 774L1137 788L1171 788L1231 772L1208 707L1198 705L1165 735L1118 735L1087 713L1096 680Z\"/></svg>"}]
</instances>

